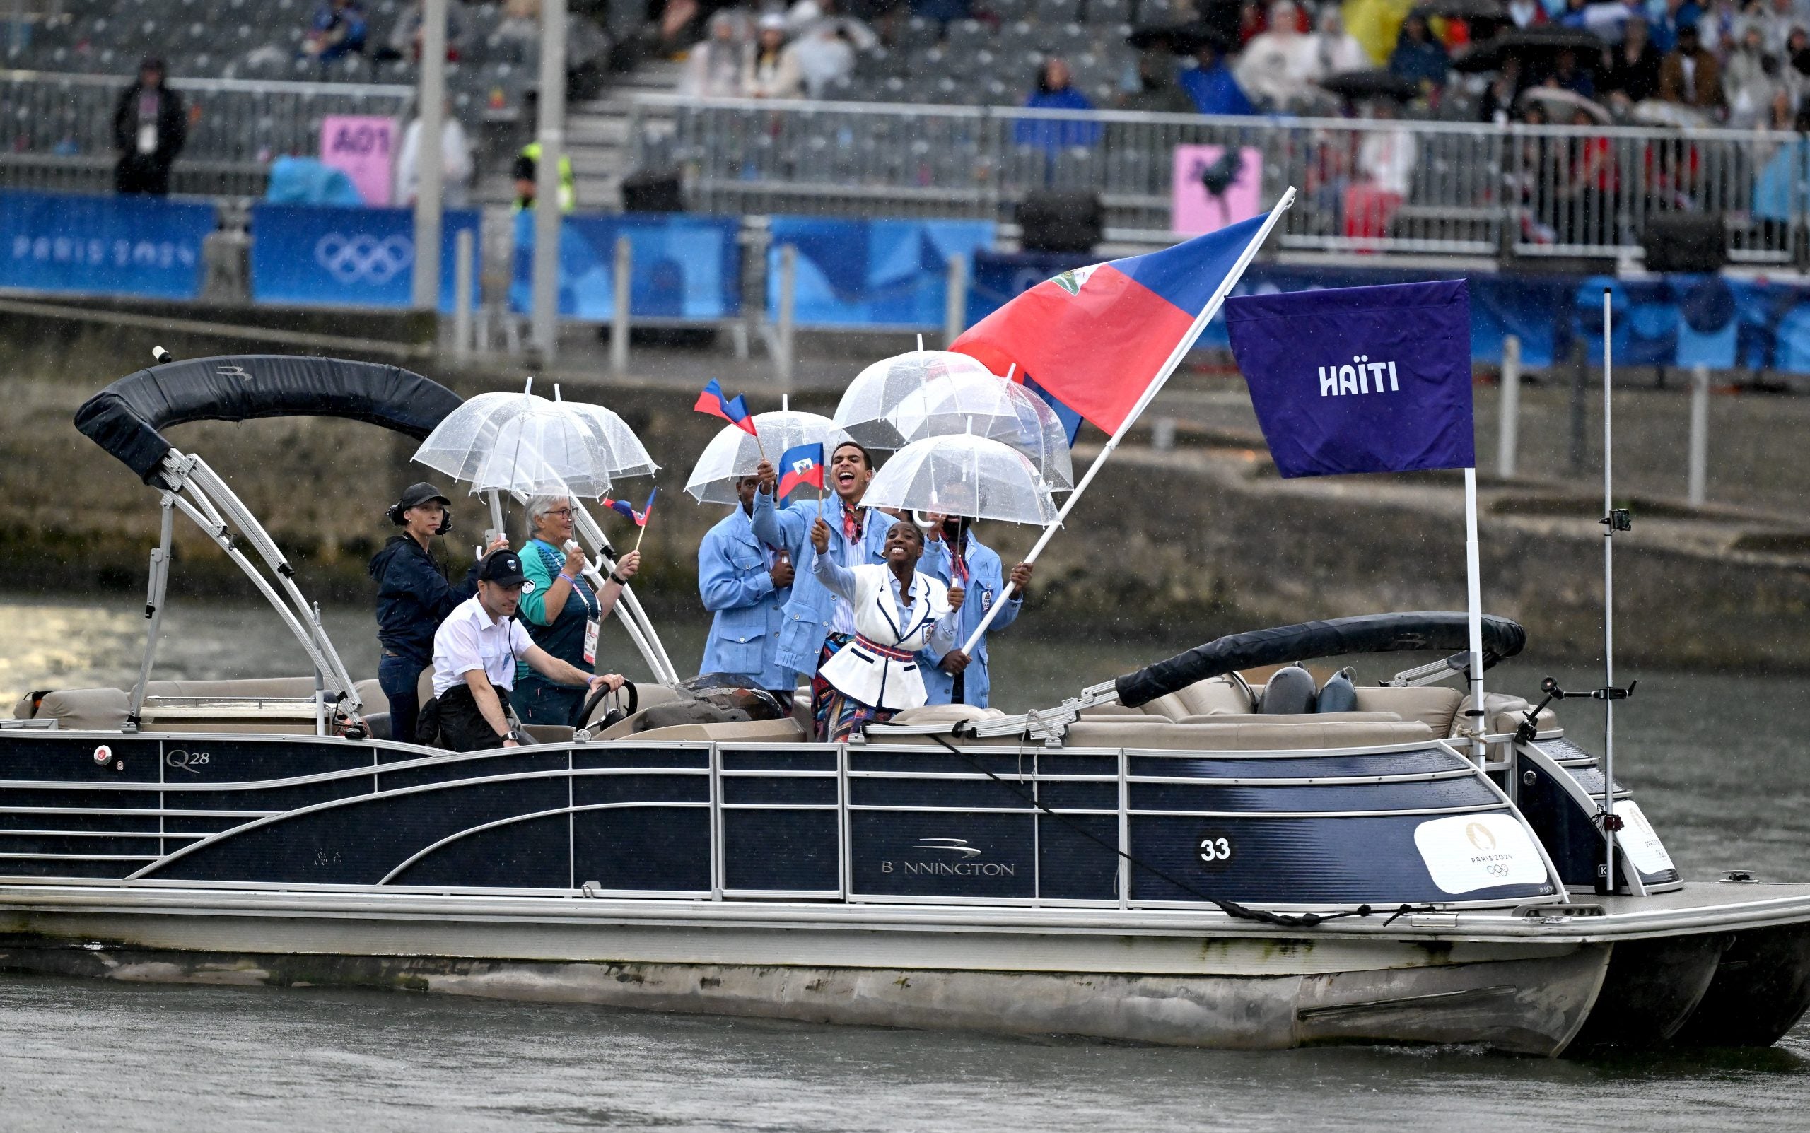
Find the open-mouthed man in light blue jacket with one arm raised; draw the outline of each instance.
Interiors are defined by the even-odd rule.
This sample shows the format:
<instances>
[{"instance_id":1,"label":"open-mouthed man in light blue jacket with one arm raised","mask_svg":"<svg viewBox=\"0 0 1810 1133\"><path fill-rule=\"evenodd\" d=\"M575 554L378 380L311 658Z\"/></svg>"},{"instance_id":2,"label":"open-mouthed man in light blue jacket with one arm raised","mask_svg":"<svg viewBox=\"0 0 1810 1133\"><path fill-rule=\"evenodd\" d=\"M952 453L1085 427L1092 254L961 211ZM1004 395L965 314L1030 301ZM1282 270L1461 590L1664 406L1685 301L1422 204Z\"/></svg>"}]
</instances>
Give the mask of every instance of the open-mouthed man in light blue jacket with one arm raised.
<instances>
[{"instance_id":1,"label":"open-mouthed man in light blue jacket with one arm raised","mask_svg":"<svg viewBox=\"0 0 1810 1133\"><path fill-rule=\"evenodd\" d=\"M757 476L760 490L755 492L755 536L769 547L784 547L798 572L782 612L778 664L811 681L814 719L816 708L829 699L827 686L818 688L822 682L816 681L816 666L854 635L854 612L811 570L816 561L811 523L822 507L824 521L829 523L829 554L842 566L858 566L885 563L887 530L894 519L862 507L862 496L874 478L874 463L867 449L854 442L843 442L831 452L827 481L834 494L827 501L804 498L789 507L776 505L773 490L778 487L778 474L773 465L762 462Z\"/></svg>"}]
</instances>

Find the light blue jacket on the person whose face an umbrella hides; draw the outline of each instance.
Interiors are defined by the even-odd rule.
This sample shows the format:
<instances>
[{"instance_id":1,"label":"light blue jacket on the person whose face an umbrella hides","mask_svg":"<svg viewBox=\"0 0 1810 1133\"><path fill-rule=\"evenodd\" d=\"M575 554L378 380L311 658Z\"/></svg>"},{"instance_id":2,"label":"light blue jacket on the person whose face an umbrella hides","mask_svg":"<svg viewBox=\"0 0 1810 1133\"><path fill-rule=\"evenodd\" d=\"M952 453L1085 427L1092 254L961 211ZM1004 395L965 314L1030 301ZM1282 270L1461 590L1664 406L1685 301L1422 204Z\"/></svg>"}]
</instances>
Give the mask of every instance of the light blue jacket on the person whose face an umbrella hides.
<instances>
[{"instance_id":1,"label":"light blue jacket on the person whose face an umbrella hides","mask_svg":"<svg viewBox=\"0 0 1810 1133\"><path fill-rule=\"evenodd\" d=\"M699 543L697 592L704 608L715 614L704 639L702 671L746 677L757 688L791 690L791 673L776 662L780 610L791 586L773 588L767 548L740 507Z\"/></svg>"}]
</instances>

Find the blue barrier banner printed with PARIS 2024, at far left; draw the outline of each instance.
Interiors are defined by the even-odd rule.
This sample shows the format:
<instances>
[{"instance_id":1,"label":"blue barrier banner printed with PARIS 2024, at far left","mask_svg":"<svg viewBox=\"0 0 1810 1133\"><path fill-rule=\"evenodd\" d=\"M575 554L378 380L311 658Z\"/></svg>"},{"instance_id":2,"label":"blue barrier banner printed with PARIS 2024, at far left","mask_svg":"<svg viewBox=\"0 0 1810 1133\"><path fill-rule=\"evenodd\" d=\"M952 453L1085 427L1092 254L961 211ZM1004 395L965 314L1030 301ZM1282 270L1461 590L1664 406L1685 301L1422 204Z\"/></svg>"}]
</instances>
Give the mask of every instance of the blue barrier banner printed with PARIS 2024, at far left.
<instances>
[{"instance_id":1,"label":"blue barrier banner printed with PARIS 2024, at far left","mask_svg":"<svg viewBox=\"0 0 1810 1133\"><path fill-rule=\"evenodd\" d=\"M0 288L195 299L214 228L212 205L5 190Z\"/></svg>"}]
</instances>

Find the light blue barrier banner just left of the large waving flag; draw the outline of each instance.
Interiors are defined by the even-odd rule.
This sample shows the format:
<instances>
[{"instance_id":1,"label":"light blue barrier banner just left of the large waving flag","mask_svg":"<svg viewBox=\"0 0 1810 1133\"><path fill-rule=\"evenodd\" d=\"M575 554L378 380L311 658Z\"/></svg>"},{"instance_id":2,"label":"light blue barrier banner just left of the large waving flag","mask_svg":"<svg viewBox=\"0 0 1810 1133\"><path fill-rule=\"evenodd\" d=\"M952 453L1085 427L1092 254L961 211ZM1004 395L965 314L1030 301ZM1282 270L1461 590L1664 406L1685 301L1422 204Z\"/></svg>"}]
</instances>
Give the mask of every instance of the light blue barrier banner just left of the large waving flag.
<instances>
[{"instance_id":1,"label":"light blue barrier banner just left of the large waving flag","mask_svg":"<svg viewBox=\"0 0 1810 1133\"><path fill-rule=\"evenodd\" d=\"M767 317L780 309L780 248L798 250L796 326L941 328L948 257L972 266L994 243L992 221L849 221L773 217Z\"/></svg>"}]
</instances>

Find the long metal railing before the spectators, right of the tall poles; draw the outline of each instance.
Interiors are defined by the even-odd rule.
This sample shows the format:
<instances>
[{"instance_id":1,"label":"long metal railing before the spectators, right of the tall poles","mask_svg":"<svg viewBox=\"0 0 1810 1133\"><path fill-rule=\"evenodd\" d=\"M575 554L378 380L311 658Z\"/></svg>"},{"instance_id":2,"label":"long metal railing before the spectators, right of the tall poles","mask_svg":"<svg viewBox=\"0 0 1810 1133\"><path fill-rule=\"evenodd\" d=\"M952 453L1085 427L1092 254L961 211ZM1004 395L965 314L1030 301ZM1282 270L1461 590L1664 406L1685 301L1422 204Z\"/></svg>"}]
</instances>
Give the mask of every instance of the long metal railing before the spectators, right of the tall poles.
<instances>
[{"instance_id":1,"label":"long metal railing before the spectators, right of the tall poles","mask_svg":"<svg viewBox=\"0 0 1810 1133\"><path fill-rule=\"evenodd\" d=\"M1638 255L1649 217L1720 214L1730 257L1792 262L1810 201L1799 134L1205 118L639 96L641 168L700 212L1010 221L1034 190L1099 194L1119 239L1173 239L1176 147L1240 150L1262 201L1300 190L1278 243L1319 252ZM1186 156L1184 176L1227 172Z\"/></svg>"}]
</instances>

